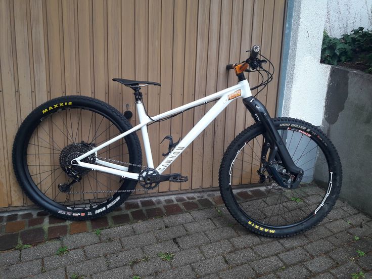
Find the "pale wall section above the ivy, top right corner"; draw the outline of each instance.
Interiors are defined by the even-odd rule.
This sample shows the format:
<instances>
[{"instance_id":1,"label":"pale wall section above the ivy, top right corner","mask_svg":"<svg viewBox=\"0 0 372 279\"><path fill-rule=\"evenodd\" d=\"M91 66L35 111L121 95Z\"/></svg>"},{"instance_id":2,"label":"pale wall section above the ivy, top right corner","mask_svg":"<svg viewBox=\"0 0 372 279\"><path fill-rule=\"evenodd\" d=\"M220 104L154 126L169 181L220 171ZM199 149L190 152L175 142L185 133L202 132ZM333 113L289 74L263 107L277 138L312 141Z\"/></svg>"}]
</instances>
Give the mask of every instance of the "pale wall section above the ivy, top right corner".
<instances>
[{"instance_id":1,"label":"pale wall section above the ivy, top right corner","mask_svg":"<svg viewBox=\"0 0 372 279\"><path fill-rule=\"evenodd\" d=\"M328 0L324 29L331 37L358 27L372 28L372 0Z\"/></svg>"}]
</instances>

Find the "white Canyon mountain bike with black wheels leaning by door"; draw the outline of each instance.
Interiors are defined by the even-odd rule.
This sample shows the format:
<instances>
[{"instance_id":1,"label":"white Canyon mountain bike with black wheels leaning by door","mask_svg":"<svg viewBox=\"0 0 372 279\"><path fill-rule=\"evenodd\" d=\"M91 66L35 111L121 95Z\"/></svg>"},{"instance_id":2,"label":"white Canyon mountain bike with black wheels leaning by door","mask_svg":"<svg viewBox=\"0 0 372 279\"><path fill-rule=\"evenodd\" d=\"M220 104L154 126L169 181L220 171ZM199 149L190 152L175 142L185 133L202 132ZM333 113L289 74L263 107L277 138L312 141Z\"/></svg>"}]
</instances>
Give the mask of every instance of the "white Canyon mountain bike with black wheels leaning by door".
<instances>
[{"instance_id":1,"label":"white Canyon mountain bike with black wheels leaning by door","mask_svg":"<svg viewBox=\"0 0 372 279\"><path fill-rule=\"evenodd\" d=\"M221 161L219 187L228 211L264 236L287 237L311 228L336 202L341 162L319 128L298 119L271 118L252 96L253 88L264 88L272 79L262 66L269 61L261 55L264 59L259 59L258 52L255 45L246 61L226 66L235 70L237 85L156 116L147 113L141 87L159 83L113 79L134 90L140 123L135 127L112 106L89 97L65 96L42 104L15 137L13 165L21 187L35 204L57 217L97 218L138 191L138 182L147 191L162 181L186 181L180 173L163 172L231 102L241 99L255 124L230 143ZM267 79L250 88L244 72L253 71L265 73ZM166 137L168 152L154 166L147 127L209 102L216 103L183 138L173 143Z\"/></svg>"}]
</instances>

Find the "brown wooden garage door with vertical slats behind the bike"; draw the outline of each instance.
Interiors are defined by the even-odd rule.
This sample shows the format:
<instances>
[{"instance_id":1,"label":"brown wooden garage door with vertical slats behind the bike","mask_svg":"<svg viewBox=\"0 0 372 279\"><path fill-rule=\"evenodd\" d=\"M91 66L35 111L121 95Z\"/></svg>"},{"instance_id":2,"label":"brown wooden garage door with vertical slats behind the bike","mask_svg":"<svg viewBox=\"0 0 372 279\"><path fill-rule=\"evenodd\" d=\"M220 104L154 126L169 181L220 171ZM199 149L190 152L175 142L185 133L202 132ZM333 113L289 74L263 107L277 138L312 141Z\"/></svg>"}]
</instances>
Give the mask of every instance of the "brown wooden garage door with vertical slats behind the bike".
<instances>
[{"instance_id":1,"label":"brown wooden garage door with vertical slats behind the bike","mask_svg":"<svg viewBox=\"0 0 372 279\"><path fill-rule=\"evenodd\" d=\"M225 65L260 44L276 73L259 99L274 115L284 15L285 0L0 0L0 207L31 204L14 177L12 144L28 113L51 98L91 96L134 112L131 90L111 79L158 81L143 90L155 115L236 84ZM212 105L149 127L155 164L163 137L178 140ZM218 187L224 149L253 123L246 112L229 106L172 164L189 181L153 192Z\"/></svg>"}]
</instances>

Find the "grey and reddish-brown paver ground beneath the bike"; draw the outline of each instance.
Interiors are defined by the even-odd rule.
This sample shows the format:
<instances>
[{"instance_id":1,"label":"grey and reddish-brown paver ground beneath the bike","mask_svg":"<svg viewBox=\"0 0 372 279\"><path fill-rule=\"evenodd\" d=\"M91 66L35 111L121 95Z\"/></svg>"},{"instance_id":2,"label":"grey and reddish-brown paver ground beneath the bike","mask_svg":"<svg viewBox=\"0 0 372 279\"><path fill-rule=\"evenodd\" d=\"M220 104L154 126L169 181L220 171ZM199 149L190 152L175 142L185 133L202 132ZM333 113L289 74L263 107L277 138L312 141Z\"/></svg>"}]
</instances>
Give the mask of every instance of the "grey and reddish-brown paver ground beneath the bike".
<instances>
[{"instance_id":1,"label":"grey and reddish-brown paver ground beneath the bike","mask_svg":"<svg viewBox=\"0 0 372 279\"><path fill-rule=\"evenodd\" d=\"M151 209L162 214L149 218ZM1 247L32 244L0 253L6 279L372 278L372 218L341 201L318 226L288 239L251 234L217 193L133 199L90 222L42 211L4 213L0 221Z\"/></svg>"}]
</instances>

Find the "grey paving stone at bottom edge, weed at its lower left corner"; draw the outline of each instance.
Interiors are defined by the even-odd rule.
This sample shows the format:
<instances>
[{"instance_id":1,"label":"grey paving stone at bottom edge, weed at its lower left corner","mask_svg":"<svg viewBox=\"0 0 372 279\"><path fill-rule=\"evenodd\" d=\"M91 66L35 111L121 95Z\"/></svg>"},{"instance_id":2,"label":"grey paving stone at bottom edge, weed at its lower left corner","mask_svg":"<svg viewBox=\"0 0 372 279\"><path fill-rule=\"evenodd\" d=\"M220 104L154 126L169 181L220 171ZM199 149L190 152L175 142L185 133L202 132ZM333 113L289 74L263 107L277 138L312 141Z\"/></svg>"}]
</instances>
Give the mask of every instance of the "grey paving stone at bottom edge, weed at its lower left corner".
<instances>
[{"instance_id":1,"label":"grey paving stone at bottom edge, weed at its lower left corner","mask_svg":"<svg viewBox=\"0 0 372 279\"><path fill-rule=\"evenodd\" d=\"M66 267L68 278L71 278L73 273L89 276L105 270L107 270L107 262L104 257L71 264Z\"/></svg>"}]
</instances>

